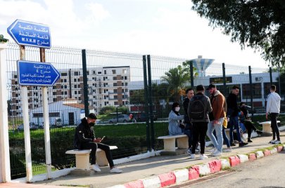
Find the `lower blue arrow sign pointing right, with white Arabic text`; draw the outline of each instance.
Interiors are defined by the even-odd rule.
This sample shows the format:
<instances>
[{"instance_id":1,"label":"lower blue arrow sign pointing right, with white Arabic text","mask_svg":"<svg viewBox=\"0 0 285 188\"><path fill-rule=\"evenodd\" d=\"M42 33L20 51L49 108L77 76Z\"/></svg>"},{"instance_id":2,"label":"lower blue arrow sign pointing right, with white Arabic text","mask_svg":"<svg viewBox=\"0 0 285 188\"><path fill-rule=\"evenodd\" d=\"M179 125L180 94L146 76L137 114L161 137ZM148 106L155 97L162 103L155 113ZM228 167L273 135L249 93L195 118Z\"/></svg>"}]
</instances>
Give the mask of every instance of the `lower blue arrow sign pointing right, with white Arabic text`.
<instances>
[{"instance_id":1,"label":"lower blue arrow sign pointing right, with white Arabic text","mask_svg":"<svg viewBox=\"0 0 285 188\"><path fill-rule=\"evenodd\" d=\"M60 77L51 63L18 60L18 82L22 86L53 86Z\"/></svg>"}]
</instances>

